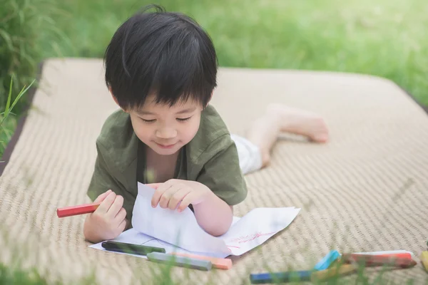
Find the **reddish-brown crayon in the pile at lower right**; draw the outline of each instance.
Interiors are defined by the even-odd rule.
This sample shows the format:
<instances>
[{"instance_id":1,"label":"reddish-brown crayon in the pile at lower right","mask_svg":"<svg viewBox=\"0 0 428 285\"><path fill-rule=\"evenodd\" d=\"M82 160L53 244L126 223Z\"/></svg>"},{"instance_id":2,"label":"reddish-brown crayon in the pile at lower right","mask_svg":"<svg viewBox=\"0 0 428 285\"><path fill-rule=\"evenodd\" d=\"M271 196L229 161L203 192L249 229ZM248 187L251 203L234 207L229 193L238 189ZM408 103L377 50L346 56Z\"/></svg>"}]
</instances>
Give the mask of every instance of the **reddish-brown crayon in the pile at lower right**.
<instances>
[{"instance_id":1,"label":"reddish-brown crayon in the pile at lower right","mask_svg":"<svg viewBox=\"0 0 428 285\"><path fill-rule=\"evenodd\" d=\"M404 254L402 257L399 257L398 254L392 256L372 254L343 254L342 260L348 263L352 261L363 263L365 266L390 265L407 268L416 265L416 261L412 259L410 254Z\"/></svg>"}]
</instances>

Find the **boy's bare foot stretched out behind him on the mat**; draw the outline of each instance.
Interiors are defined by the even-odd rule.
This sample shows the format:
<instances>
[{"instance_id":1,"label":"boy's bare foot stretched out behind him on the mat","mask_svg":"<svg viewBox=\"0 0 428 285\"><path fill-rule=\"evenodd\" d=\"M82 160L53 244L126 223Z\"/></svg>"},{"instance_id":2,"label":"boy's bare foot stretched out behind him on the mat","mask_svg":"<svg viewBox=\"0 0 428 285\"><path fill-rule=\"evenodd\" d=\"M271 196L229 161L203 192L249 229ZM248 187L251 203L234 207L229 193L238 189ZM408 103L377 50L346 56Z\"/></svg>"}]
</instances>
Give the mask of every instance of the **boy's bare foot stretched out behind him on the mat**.
<instances>
[{"instance_id":1,"label":"boy's bare foot stretched out behind him on the mat","mask_svg":"<svg viewBox=\"0 0 428 285\"><path fill-rule=\"evenodd\" d=\"M327 125L320 115L276 103L267 107L267 114L277 119L282 132L303 135L315 142L328 140Z\"/></svg>"}]
</instances>

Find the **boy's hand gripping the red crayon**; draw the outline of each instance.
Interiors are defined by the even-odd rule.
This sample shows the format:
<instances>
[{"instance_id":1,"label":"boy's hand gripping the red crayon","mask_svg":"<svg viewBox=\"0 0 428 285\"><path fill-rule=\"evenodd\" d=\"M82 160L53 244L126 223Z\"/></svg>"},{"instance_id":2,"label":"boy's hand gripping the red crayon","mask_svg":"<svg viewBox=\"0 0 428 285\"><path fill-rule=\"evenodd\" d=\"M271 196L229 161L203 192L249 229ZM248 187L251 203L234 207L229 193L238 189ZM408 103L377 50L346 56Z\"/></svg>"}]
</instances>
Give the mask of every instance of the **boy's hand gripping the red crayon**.
<instances>
[{"instance_id":1,"label":"boy's hand gripping the red crayon","mask_svg":"<svg viewBox=\"0 0 428 285\"><path fill-rule=\"evenodd\" d=\"M91 242L100 242L118 237L126 227L126 210L123 197L111 190L99 195L94 202L101 202L98 208L88 214L83 232Z\"/></svg>"}]
</instances>

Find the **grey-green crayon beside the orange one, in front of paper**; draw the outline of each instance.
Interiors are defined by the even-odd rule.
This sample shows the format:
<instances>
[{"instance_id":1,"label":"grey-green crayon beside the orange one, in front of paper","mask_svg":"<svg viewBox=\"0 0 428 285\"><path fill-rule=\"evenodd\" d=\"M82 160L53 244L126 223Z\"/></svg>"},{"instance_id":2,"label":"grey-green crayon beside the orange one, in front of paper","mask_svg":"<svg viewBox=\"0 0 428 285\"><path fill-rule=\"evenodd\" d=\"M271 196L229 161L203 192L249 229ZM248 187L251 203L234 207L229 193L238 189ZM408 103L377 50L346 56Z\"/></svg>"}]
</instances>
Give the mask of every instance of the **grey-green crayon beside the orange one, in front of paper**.
<instances>
[{"instance_id":1,"label":"grey-green crayon beside the orange one, in front of paper","mask_svg":"<svg viewBox=\"0 0 428 285\"><path fill-rule=\"evenodd\" d=\"M213 267L213 264L209 260L191 259L190 257L178 257L173 254L162 254L160 252L151 252L147 254L147 258L150 261L158 263L171 263L175 266L188 267L191 269L199 269L204 271L208 271Z\"/></svg>"}]
</instances>

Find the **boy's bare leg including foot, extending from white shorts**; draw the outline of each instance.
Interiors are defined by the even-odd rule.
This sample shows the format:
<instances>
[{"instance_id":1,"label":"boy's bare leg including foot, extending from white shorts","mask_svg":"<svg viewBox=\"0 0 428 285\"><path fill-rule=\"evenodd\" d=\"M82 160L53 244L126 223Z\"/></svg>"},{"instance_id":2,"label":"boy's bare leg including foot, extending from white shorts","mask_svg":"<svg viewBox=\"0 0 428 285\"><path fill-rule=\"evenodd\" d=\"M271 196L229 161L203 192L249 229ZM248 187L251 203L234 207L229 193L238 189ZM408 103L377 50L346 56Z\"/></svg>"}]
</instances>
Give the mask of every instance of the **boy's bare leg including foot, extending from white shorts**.
<instances>
[{"instance_id":1,"label":"boy's bare leg including foot, extending from white shorts","mask_svg":"<svg viewBox=\"0 0 428 285\"><path fill-rule=\"evenodd\" d=\"M303 135L315 142L326 142L328 130L325 121L317 114L271 104L265 115L255 120L247 138L260 147L263 167L270 162L270 151L280 132Z\"/></svg>"}]
</instances>

